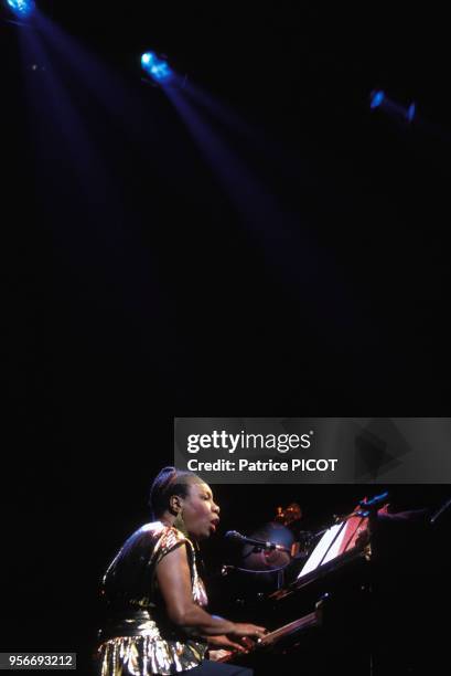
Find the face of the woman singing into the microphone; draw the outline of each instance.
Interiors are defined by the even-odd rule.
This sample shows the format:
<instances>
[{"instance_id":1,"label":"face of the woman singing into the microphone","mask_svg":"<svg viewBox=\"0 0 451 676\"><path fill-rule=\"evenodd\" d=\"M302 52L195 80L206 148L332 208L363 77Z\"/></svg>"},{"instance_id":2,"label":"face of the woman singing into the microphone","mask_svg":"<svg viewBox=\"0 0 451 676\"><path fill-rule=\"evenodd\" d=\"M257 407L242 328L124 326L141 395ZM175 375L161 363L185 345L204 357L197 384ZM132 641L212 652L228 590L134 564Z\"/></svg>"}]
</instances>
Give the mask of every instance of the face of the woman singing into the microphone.
<instances>
[{"instance_id":1,"label":"face of the woman singing into the microphone","mask_svg":"<svg viewBox=\"0 0 451 676\"><path fill-rule=\"evenodd\" d=\"M190 484L189 494L183 498L183 520L186 530L196 540L208 538L216 532L219 507L213 500L208 484Z\"/></svg>"}]
</instances>

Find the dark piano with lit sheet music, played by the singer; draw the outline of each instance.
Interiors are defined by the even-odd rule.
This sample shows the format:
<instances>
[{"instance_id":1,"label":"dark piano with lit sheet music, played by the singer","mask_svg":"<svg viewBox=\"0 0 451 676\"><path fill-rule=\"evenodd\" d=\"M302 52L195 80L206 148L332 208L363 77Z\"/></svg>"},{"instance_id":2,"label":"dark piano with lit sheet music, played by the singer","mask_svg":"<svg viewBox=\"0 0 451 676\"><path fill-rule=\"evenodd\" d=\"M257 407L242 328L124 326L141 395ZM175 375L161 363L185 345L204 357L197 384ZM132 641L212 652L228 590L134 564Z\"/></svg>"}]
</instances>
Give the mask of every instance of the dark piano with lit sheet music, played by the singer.
<instances>
[{"instance_id":1,"label":"dark piano with lit sheet music, played by the singer","mask_svg":"<svg viewBox=\"0 0 451 676\"><path fill-rule=\"evenodd\" d=\"M310 676L331 673L332 652L347 675L365 676L372 556L367 517L350 515L326 529L294 580L246 604L243 619L269 633L247 655L229 653L221 662L250 666L256 676L291 674L293 666Z\"/></svg>"}]
</instances>

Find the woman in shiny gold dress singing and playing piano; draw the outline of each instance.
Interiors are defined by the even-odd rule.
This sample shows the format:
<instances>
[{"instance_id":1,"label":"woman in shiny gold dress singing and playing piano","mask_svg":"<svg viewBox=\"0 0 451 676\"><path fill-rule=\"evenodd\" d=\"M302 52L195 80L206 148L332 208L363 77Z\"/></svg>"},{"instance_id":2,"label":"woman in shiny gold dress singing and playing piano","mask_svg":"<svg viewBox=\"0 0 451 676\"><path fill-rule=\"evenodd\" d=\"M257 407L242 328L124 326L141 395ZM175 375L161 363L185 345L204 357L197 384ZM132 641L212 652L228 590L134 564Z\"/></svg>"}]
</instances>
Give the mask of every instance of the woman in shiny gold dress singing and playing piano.
<instances>
[{"instance_id":1,"label":"woman in shiny gold dress singing and playing piano","mask_svg":"<svg viewBox=\"0 0 451 676\"><path fill-rule=\"evenodd\" d=\"M108 621L98 648L101 676L249 676L243 667L208 659L208 646L245 651L265 629L206 612L198 542L215 532L219 507L210 486L191 472L164 467L150 492L155 519L133 532L103 582Z\"/></svg>"}]
</instances>

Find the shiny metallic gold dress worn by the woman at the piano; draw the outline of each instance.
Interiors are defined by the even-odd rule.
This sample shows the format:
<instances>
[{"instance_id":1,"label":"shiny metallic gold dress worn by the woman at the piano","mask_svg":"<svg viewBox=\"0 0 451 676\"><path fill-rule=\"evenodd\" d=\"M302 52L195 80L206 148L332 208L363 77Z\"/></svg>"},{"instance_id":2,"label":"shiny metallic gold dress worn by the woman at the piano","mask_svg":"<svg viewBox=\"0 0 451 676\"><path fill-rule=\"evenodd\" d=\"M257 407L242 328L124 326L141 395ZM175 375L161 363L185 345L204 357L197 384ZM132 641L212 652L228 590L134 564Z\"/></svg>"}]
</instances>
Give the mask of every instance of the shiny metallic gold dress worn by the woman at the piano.
<instances>
[{"instance_id":1,"label":"shiny metallic gold dress worn by the woman at the piano","mask_svg":"<svg viewBox=\"0 0 451 676\"><path fill-rule=\"evenodd\" d=\"M126 541L104 577L101 593L108 619L99 632L100 676L176 674L205 658L206 642L189 636L169 621L158 589L157 564L180 546L186 547L193 601L207 604L193 542L160 521L142 526Z\"/></svg>"}]
</instances>

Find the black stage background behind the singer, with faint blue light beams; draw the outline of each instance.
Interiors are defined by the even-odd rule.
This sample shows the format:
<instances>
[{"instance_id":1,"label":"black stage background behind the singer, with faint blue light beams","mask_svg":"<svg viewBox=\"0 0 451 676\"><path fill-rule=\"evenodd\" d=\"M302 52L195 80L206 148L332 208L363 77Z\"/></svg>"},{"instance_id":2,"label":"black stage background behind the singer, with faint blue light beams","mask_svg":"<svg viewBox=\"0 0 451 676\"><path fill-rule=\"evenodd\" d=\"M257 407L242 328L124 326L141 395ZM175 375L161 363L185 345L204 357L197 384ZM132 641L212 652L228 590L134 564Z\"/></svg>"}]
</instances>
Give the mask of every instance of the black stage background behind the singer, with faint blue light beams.
<instances>
[{"instance_id":1,"label":"black stage background behind the singer, with faint blue light beams","mask_svg":"<svg viewBox=\"0 0 451 676\"><path fill-rule=\"evenodd\" d=\"M2 643L84 652L174 414L445 414L450 46L405 2L39 6L63 31L41 59L0 24ZM198 108L250 219L141 82L149 47L237 116ZM371 112L378 87L425 124ZM225 527L267 520L229 490ZM309 490L318 514L359 495Z\"/></svg>"}]
</instances>

